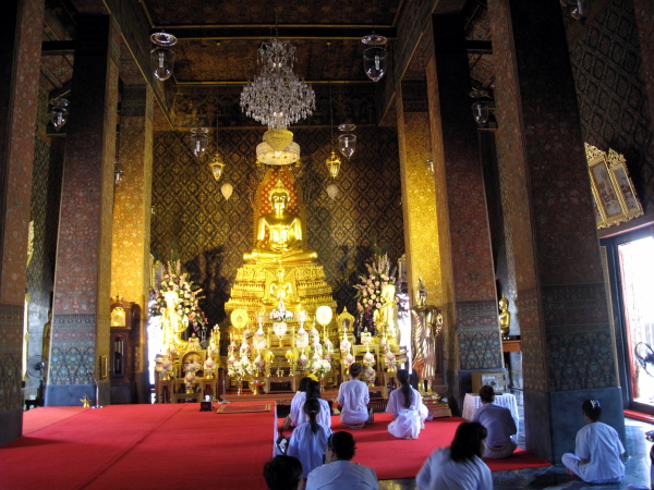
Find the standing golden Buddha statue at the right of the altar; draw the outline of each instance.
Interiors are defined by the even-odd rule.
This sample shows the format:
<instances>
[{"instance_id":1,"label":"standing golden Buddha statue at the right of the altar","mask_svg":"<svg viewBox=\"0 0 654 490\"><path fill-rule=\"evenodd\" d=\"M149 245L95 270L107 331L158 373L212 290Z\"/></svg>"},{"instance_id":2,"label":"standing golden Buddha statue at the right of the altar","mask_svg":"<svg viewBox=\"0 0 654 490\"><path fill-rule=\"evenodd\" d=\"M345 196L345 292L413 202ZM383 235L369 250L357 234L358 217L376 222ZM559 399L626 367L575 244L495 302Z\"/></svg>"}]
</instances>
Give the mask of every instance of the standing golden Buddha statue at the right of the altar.
<instances>
[{"instance_id":1,"label":"standing golden Buddha statue at the right of the altar","mask_svg":"<svg viewBox=\"0 0 654 490\"><path fill-rule=\"evenodd\" d=\"M427 305L427 289L422 278L417 279L416 305L411 313L411 336L413 341L413 370L417 373L419 388L432 394L432 380L436 377L436 338L443 329L443 315L436 306Z\"/></svg>"}]
</instances>

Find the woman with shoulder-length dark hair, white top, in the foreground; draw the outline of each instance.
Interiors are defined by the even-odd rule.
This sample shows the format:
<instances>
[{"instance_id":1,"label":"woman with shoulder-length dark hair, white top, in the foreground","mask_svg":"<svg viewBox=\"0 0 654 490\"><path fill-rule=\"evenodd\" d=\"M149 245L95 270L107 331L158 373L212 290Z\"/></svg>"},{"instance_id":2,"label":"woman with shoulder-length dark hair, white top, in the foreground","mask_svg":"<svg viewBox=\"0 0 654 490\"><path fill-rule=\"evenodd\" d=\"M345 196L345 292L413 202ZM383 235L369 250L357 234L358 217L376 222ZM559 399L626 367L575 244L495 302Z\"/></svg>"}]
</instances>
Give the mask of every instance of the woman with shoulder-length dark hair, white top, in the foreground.
<instances>
[{"instance_id":1,"label":"woman with shoulder-length dark hair, white top, in the foreground","mask_svg":"<svg viewBox=\"0 0 654 490\"><path fill-rule=\"evenodd\" d=\"M491 469L482 460L488 431L480 422L457 428L449 448L432 453L415 477L419 490L493 490Z\"/></svg>"}]
</instances>

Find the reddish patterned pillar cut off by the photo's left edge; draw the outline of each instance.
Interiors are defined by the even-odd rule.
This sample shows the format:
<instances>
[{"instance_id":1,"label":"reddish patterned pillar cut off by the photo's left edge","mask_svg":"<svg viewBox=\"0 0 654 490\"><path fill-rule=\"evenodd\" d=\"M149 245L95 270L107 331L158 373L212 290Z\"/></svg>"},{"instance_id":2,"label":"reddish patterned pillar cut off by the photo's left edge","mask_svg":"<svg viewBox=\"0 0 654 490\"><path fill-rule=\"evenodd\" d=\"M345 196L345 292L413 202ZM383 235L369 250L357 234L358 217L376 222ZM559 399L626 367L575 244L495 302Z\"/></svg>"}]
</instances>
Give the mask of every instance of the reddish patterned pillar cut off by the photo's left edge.
<instances>
[{"instance_id":1,"label":"reddish patterned pillar cut off by the photo's left edge","mask_svg":"<svg viewBox=\"0 0 654 490\"><path fill-rule=\"evenodd\" d=\"M0 20L0 444L23 429L23 321L44 2L8 2Z\"/></svg>"}]
</instances>

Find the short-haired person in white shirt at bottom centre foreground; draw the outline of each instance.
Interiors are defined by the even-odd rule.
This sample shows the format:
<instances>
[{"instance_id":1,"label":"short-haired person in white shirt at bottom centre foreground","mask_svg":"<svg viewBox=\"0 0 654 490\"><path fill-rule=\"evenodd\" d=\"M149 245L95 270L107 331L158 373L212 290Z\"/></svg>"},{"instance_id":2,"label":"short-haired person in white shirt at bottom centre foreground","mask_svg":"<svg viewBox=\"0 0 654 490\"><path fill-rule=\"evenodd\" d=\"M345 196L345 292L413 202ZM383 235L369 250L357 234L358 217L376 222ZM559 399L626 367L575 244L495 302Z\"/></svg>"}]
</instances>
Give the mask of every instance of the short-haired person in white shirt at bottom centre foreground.
<instances>
[{"instance_id":1,"label":"short-haired person in white shirt at bottom centre foreground","mask_svg":"<svg viewBox=\"0 0 654 490\"><path fill-rule=\"evenodd\" d=\"M350 432L329 436L325 464L308 474L306 490L378 490L375 470L350 461L355 450Z\"/></svg>"}]
</instances>

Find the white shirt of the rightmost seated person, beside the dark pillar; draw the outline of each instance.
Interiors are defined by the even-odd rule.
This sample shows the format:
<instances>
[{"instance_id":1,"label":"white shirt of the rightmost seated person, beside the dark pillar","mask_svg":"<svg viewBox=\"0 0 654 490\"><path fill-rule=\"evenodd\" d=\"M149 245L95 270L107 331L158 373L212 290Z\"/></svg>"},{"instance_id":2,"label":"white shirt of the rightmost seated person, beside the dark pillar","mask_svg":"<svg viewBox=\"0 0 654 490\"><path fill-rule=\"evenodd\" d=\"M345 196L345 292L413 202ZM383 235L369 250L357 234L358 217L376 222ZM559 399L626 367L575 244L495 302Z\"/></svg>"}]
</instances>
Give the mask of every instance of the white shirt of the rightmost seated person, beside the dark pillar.
<instances>
[{"instance_id":1,"label":"white shirt of the rightmost seated person, beside the dark pillar","mask_svg":"<svg viewBox=\"0 0 654 490\"><path fill-rule=\"evenodd\" d=\"M589 460L585 465L579 465L579 476L584 481L600 481L625 476L625 465L620 455L625 446L618 432L610 426L593 422L577 432L574 455Z\"/></svg>"}]
</instances>

